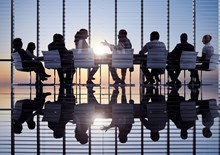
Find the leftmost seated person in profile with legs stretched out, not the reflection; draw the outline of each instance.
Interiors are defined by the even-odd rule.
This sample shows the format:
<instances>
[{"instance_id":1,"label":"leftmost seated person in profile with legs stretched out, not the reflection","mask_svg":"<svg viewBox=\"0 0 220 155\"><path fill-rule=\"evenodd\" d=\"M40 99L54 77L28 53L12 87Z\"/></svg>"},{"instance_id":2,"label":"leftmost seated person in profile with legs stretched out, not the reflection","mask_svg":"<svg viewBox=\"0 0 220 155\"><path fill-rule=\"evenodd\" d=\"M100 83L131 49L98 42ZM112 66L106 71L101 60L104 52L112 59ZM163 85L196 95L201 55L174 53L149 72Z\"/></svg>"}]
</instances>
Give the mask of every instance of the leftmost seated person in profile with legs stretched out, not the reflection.
<instances>
[{"instance_id":1,"label":"leftmost seated person in profile with legs stretched out, not the reflection","mask_svg":"<svg viewBox=\"0 0 220 155\"><path fill-rule=\"evenodd\" d=\"M36 68L34 72L36 73L36 76L39 74L40 80L44 81L47 80L50 75L46 74L43 64L38 60L33 60L32 57L30 57L27 52L22 49L23 43L21 38L15 38L13 40L13 52L18 52L21 60L22 60L22 66L24 68ZM36 82L37 84L37 82Z\"/></svg>"}]
</instances>

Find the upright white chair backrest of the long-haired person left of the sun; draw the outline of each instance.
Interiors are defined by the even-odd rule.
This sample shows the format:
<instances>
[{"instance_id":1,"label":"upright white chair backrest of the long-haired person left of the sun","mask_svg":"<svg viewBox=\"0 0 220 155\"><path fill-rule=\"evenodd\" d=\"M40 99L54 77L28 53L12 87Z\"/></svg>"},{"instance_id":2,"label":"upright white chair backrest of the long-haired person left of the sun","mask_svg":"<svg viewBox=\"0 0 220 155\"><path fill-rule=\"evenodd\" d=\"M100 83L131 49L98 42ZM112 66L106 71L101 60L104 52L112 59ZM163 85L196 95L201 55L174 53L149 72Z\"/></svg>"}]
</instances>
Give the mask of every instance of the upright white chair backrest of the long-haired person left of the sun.
<instances>
[{"instance_id":1,"label":"upright white chair backrest of the long-haired person left of the sun","mask_svg":"<svg viewBox=\"0 0 220 155\"><path fill-rule=\"evenodd\" d=\"M93 68L95 66L93 49L73 49L75 68Z\"/></svg>"}]
</instances>

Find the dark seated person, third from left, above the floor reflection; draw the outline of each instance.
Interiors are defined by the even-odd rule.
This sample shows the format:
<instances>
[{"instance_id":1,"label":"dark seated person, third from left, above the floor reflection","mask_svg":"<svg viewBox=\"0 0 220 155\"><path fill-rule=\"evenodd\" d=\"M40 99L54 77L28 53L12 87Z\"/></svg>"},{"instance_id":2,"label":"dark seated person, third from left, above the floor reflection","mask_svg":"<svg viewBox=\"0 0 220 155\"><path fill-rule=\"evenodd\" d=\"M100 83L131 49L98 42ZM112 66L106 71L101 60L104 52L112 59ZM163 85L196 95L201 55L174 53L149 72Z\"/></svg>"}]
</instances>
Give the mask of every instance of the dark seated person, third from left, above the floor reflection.
<instances>
[{"instance_id":1,"label":"dark seated person, third from left, above the floor reflection","mask_svg":"<svg viewBox=\"0 0 220 155\"><path fill-rule=\"evenodd\" d=\"M69 52L64 43L64 38L61 34L54 34L53 42L48 45L48 50L58 50L61 57L61 66L62 68L58 68L58 76L60 80L60 84L71 84L73 81L73 75L75 73L75 69L72 64L72 53ZM66 74L66 76L65 76Z\"/></svg>"}]
</instances>

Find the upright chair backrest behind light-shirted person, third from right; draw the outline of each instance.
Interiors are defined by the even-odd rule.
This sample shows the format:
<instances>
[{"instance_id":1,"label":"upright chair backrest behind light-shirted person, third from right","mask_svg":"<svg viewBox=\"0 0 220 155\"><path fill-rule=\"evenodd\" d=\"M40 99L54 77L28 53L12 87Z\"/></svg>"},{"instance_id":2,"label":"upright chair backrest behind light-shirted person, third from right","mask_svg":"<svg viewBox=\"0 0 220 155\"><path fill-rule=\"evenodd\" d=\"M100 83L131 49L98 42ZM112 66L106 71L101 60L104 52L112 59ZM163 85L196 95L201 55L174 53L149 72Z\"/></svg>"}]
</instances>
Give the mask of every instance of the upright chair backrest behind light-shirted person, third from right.
<instances>
[{"instance_id":1,"label":"upright chair backrest behind light-shirted person, third from right","mask_svg":"<svg viewBox=\"0 0 220 155\"><path fill-rule=\"evenodd\" d=\"M162 48L150 49L147 54L147 68L165 69L168 51Z\"/></svg>"}]
</instances>

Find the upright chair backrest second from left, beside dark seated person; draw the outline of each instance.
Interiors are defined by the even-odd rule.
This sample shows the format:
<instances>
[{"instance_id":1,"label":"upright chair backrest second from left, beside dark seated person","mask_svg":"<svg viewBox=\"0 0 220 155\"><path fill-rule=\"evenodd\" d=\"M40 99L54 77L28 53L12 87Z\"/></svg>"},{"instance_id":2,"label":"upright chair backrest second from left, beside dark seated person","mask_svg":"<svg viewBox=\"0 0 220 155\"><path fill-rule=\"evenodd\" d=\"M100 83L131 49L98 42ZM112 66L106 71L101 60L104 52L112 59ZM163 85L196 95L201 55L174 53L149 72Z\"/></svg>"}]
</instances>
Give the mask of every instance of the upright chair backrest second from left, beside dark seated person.
<instances>
[{"instance_id":1,"label":"upright chair backrest second from left, beside dark seated person","mask_svg":"<svg viewBox=\"0 0 220 155\"><path fill-rule=\"evenodd\" d=\"M48 69L62 68L61 58L58 50L42 51L44 56L44 64Z\"/></svg>"}]
</instances>

